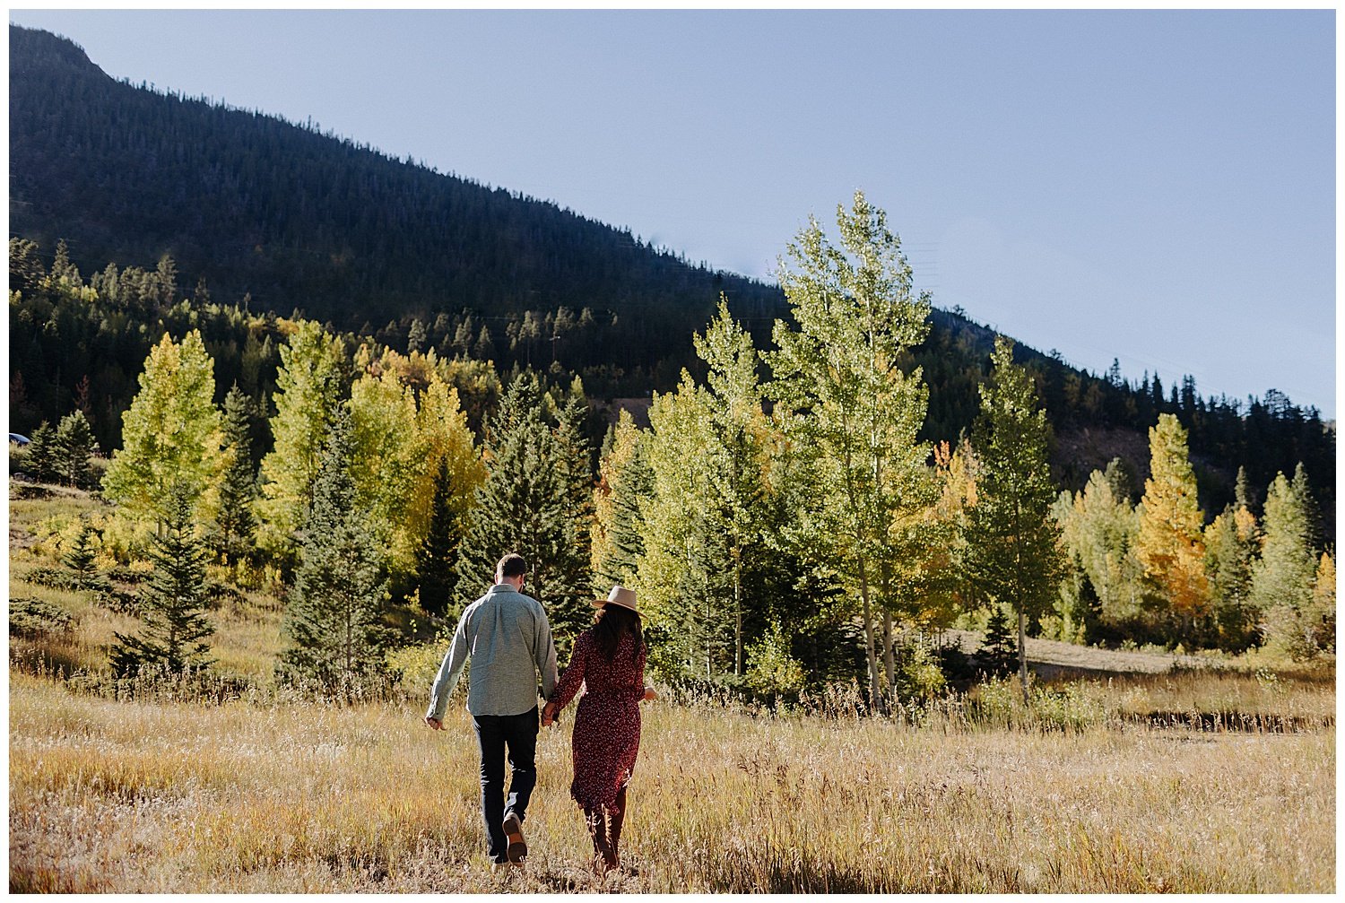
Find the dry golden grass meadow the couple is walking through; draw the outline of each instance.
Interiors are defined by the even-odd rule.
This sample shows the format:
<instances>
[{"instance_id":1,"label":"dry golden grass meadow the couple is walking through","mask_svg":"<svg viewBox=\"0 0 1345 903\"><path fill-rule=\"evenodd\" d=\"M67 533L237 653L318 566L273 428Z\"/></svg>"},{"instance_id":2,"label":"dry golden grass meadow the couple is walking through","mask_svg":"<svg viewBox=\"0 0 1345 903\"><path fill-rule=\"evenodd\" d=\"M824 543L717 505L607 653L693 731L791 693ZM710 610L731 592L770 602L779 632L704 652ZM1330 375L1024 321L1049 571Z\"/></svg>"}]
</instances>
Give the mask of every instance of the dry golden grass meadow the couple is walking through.
<instances>
[{"instance_id":1,"label":"dry golden grass meadow the couple is walking through","mask_svg":"<svg viewBox=\"0 0 1345 903\"><path fill-rule=\"evenodd\" d=\"M71 618L11 635L11 891L1336 887L1334 669L1258 659L1053 682L1030 707L991 684L890 719L847 715L843 694L826 716L654 702L623 871L607 879L569 799L566 717L539 739L529 863L495 873L469 719L455 705L445 732L425 728L428 681L338 707L66 680L97 676L112 631L136 623L26 579L52 567L56 521L94 505L11 501L11 599ZM243 593L213 616L219 670L262 682L281 642L274 599Z\"/></svg>"}]
</instances>

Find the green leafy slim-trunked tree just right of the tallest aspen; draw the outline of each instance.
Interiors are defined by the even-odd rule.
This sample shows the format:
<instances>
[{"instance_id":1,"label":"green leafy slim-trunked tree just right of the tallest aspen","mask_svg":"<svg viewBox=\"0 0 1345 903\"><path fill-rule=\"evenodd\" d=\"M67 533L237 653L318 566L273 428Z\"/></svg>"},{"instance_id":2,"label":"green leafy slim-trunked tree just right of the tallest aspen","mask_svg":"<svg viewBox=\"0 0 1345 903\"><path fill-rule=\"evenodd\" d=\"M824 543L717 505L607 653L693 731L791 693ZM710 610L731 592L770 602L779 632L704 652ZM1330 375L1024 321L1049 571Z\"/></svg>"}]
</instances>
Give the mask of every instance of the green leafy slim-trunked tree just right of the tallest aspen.
<instances>
[{"instance_id":1,"label":"green leafy slim-trunked tree just right of the tallest aspen","mask_svg":"<svg viewBox=\"0 0 1345 903\"><path fill-rule=\"evenodd\" d=\"M1049 610L1064 571L1060 528L1049 515L1056 491L1046 464L1046 412L1032 377L1013 362L1013 342L995 338L994 370L981 386L972 445L981 462L967 525L974 584L1018 615L1018 677L1028 700L1028 618Z\"/></svg>"}]
</instances>

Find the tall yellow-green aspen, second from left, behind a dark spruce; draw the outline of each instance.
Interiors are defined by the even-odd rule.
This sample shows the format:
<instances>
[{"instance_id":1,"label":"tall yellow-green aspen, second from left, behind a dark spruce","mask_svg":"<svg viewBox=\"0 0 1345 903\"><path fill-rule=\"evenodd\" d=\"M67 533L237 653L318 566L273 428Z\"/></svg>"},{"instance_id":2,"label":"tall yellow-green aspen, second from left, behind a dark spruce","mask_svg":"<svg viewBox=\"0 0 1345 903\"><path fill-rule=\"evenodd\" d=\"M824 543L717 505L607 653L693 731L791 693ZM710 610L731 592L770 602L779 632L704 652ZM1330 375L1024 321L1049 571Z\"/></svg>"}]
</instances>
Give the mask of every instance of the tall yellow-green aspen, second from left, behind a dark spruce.
<instances>
[{"instance_id":1,"label":"tall yellow-green aspen, second from left, behind a dark spruce","mask_svg":"<svg viewBox=\"0 0 1345 903\"><path fill-rule=\"evenodd\" d=\"M313 502L313 482L343 394L340 342L321 326L301 320L280 347L280 370L270 419L274 448L261 462L257 544L281 557L296 548L297 532Z\"/></svg>"}]
</instances>

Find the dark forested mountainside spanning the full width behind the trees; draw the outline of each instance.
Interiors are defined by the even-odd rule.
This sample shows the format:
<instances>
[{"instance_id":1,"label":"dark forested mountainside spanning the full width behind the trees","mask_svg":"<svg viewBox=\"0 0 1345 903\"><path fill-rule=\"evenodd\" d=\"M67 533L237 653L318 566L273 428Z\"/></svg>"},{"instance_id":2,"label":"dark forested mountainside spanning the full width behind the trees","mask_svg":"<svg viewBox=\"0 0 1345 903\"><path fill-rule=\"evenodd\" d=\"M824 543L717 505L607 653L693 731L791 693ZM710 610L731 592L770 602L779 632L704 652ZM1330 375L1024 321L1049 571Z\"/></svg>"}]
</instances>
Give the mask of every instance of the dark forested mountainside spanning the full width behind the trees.
<instances>
[{"instance_id":1,"label":"dark forested mountainside spanning the full width behind the trees","mask_svg":"<svg viewBox=\"0 0 1345 903\"><path fill-rule=\"evenodd\" d=\"M200 280L198 304L207 291L225 304L246 296L253 314L299 310L398 350L469 353L502 369L554 363L607 397L670 389L683 366L698 374L691 334L721 292L763 347L772 320L787 316L776 287L691 266L553 203L273 116L117 82L44 31L11 26L9 48L11 236L36 241L46 260L63 238L114 308L94 315L35 296L11 304L11 428L55 421L91 392L100 441L114 445L155 331L194 322L175 308L184 295L176 273L187 285ZM176 268L155 272L165 254ZM104 269L113 261L149 272L130 280L149 289L113 297L105 289L116 273ZM34 262L11 260L11 288L32 285L23 273ZM225 374L250 373L261 400L266 377L257 371L274 359L261 345L277 336L213 316L221 393ZM109 332L109 322L120 326ZM932 327L909 361L929 386L923 435L956 440L976 413L994 334L940 310ZM1167 394L1157 375L1098 377L1024 346L1017 358L1037 373L1061 484L1079 489L1114 455L1142 478L1146 431L1173 412L1190 431L1208 513L1232 498L1239 466L1258 491L1305 462L1334 533L1334 431L1315 410L1279 393L1245 406L1206 401L1190 381Z\"/></svg>"}]
</instances>

